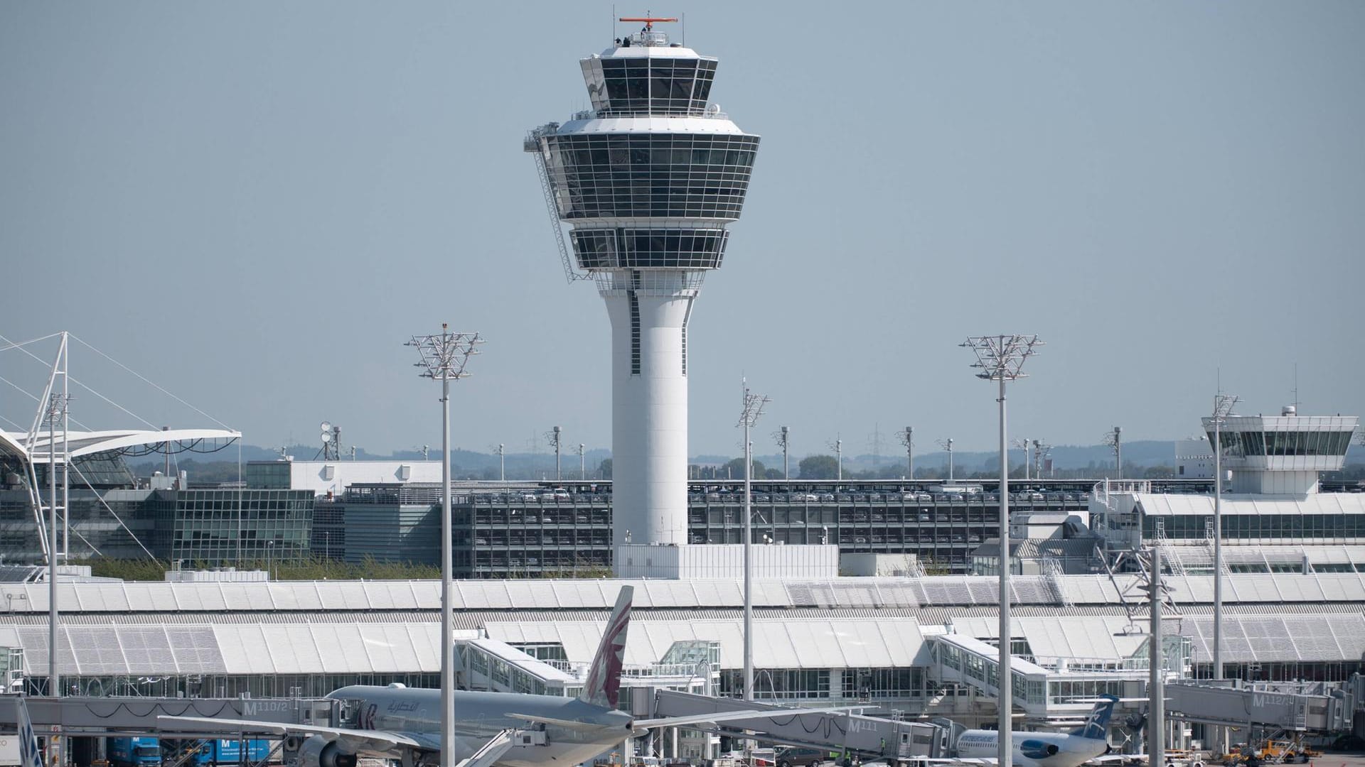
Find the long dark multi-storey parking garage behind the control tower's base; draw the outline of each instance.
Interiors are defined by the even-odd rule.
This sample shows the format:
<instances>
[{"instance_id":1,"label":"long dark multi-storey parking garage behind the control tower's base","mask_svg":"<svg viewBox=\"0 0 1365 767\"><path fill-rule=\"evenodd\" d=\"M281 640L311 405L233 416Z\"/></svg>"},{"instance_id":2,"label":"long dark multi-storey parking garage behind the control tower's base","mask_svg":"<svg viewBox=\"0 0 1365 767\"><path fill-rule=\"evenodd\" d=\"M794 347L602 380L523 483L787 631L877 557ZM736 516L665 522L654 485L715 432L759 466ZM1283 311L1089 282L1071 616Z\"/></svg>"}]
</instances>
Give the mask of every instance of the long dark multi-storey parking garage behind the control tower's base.
<instances>
[{"instance_id":1,"label":"long dark multi-storey parking garage behind the control tower's base","mask_svg":"<svg viewBox=\"0 0 1365 767\"><path fill-rule=\"evenodd\" d=\"M947 493L935 482L758 482L753 542L829 543L842 553L915 554L934 572L968 572L994 531L994 483ZM1035 482L1011 493L1016 515L1061 512L1084 521L1091 482ZM324 498L314 553L362 561L435 564L441 489L434 483L352 484ZM612 566L610 482L460 483L455 568L460 577L594 572ZM688 543L740 543L743 489L692 482Z\"/></svg>"}]
</instances>

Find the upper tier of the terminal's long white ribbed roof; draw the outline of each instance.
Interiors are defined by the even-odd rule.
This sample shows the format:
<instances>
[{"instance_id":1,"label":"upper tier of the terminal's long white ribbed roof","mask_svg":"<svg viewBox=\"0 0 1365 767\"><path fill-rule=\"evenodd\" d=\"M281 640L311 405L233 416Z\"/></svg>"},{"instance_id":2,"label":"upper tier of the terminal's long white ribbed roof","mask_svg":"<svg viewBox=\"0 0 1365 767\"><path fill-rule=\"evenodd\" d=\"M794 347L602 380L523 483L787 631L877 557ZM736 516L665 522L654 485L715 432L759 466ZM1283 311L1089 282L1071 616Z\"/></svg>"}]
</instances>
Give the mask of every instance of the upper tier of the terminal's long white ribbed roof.
<instances>
[{"instance_id":1,"label":"upper tier of the terminal's long white ribbed roof","mask_svg":"<svg viewBox=\"0 0 1365 767\"><path fill-rule=\"evenodd\" d=\"M1017 605L1140 602L1137 577L1077 575L1048 579L1016 576ZM1115 583L1118 588L1115 588ZM635 587L636 607L736 609L743 605L738 580L461 580L455 583L457 610L609 610L622 584ZM1208 603L1213 580L1207 575L1170 576L1178 603ZM1226 576L1228 602L1362 602L1365 573L1234 573ZM321 581L113 581L59 583L59 603L71 613L236 613L321 610L437 610L437 580ZM1121 596L1122 594L1122 596ZM756 607L925 609L994 607L996 581L983 576L848 577L834 580L759 580ZM0 583L0 599L14 613L46 613L46 584Z\"/></svg>"}]
</instances>

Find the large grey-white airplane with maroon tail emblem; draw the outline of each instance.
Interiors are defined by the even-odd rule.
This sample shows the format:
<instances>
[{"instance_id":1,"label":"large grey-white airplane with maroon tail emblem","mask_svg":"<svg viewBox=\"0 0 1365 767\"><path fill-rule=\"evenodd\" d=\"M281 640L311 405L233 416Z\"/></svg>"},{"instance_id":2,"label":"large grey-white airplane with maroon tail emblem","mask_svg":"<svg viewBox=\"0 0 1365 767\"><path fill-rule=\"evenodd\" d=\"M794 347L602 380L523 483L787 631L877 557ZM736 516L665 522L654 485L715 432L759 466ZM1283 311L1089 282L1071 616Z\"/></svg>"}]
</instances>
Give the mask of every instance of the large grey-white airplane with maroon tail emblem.
<instances>
[{"instance_id":1,"label":"large grey-white airplane with maroon tail emblem","mask_svg":"<svg viewBox=\"0 0 1365 767\"><path fill-rule=\"evenodd\" d=\"M352 685L328 697L345 701L351 727L318 727L202 717L157 717L168 725L303 737L299 767L355 767L359 756L401 759L403 767L541 767L580 764L651 727L767 719L842 708L726 711L666 719L636 719L618 711L625 635L635 588L622 585L579 697L509 692L455 692L456 753L441 759L441 692L401 684Z\"/></svg>"}]
</instances>

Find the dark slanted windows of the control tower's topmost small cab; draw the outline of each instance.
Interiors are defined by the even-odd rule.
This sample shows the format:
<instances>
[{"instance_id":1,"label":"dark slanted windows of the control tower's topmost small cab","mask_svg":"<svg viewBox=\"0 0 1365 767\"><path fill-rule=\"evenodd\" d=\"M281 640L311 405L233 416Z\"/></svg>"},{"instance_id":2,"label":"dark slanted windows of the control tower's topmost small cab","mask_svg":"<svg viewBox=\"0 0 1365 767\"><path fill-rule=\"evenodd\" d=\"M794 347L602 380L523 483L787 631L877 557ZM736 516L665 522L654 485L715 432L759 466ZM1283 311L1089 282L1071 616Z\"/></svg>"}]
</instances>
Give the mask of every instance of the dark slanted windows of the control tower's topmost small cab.
<instances>
[{"instance_id":1,"label":"dark slanted windows of the control tower's topmost small cab","mask_svg":"<svg viewBox=\"0 0 1365 767\"><path fill-rule=\"evenodd\" d=\"M622 56L581 64L601 116L702 115L715 79L715 59Z\"/></svg>"}]
</instances>

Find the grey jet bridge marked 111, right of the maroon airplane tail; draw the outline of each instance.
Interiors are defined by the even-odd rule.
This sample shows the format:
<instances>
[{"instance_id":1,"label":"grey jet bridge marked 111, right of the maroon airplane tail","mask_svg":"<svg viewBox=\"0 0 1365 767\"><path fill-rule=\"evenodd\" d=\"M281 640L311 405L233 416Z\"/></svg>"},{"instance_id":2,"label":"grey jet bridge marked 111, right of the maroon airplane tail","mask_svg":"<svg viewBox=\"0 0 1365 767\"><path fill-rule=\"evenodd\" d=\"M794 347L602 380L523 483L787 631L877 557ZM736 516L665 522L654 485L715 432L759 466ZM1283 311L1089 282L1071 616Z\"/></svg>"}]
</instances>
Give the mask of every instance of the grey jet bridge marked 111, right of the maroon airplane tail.
<instances>
[{"instance_id":1,"label":"grey jet bridge marked 111, right of the maroon airplane tail","mask_svg":"<svg viewBox=\"0 0 1365 767\"><path fill-rule=\"evenodd\" d=\"M710 697L676 691L658 691L654 699L655 717L695 717L728 711L773 711L786 708L773 703ZM928 722L897 722L852 712L812 712L777 719L732 719L718 729L747 730L755 740L805 745L841 753L857 753L864 759L913 762L947 756L949 730Z\"/></svg>"}]
</instances>

